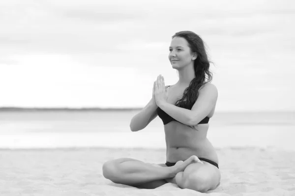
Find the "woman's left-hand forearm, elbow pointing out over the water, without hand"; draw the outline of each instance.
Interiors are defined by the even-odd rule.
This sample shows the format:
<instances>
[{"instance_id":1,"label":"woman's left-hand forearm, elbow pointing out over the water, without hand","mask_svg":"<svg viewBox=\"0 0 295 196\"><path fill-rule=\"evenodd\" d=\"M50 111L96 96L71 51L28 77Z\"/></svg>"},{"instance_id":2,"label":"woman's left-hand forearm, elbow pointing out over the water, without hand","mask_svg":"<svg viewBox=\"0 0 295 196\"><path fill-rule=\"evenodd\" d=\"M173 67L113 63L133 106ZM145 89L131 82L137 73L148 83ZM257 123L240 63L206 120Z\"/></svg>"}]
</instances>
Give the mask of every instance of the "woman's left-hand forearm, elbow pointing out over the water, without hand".
<instances>
[{"instance_id":1,"label":"woman's left-hand forearm, elbow pointing out over the water, without hand","mask_svg":"<svg viewBox=\"0 0 295 196\"><path fill-rule=\"evenodd\" d=\"M154 103L153 98L150 99L148 104L136 114L131 122L130 129L131 131L139 131L144 129L152 120L157 117L157 105Z\"/></svg>"}]
</instances>

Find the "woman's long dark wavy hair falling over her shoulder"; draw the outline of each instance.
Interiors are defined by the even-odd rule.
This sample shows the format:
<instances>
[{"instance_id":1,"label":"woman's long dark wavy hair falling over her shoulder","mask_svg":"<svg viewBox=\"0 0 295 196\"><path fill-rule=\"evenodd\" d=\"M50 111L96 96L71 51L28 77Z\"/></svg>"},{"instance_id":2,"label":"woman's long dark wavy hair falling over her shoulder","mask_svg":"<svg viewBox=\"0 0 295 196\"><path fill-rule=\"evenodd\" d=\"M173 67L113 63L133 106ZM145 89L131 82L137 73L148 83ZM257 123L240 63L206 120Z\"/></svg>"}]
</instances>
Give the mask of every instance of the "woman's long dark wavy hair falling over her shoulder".
<instances>
[{"instance_id":1,"label":"woman's long dark wavy hair falling over her shoulder","mask_svg":"<svg viewBox=\"0 0 295 196\"><path fill-rule=\"evenodd\" d=\"M184 105L192 105L196 102L199 96L199 90L208 82L212 80L212 73L209 71L210 61L208 61L207 52L202 38L192 31L180 31L172 36L182 37L188 42L191 52L197 53L197 58L194 61L195 78L192 79L189 86L184 90L182 97L177 100L175 105L185 107ZM186 100L186 103L184 102ZM191 109L191 108L187 108ZM187 125L189 126L189 125ZM194 126L189 126L195 129Z\"/></svg>"}]
</instances>

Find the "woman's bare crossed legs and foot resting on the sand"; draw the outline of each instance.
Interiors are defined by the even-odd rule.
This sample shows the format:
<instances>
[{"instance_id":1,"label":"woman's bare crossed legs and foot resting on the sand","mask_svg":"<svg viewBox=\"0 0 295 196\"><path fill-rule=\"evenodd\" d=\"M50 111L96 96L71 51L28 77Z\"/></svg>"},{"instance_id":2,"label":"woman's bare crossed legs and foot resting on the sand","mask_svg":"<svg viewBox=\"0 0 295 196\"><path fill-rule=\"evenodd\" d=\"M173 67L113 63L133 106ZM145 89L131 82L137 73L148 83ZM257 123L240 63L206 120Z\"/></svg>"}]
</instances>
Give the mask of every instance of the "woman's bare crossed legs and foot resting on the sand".
<instances>
[{"instance_id":1,"label":"woman's bare crossed legs and foot resting on the sand","mask_svg":"<svg viewBox=\"0 0 295 196\"><path fill-rule=\"evenodd\" d=\"M219 170L207 162L200 164L198 161L197 156L191 156L185 161L178 161L175 166L167 167L165 164L119 158L103 165L103 175L115 183L145 189L154 189L167 182L199 192L215 189L220 181Z\"/></svg>"}]
</instances>

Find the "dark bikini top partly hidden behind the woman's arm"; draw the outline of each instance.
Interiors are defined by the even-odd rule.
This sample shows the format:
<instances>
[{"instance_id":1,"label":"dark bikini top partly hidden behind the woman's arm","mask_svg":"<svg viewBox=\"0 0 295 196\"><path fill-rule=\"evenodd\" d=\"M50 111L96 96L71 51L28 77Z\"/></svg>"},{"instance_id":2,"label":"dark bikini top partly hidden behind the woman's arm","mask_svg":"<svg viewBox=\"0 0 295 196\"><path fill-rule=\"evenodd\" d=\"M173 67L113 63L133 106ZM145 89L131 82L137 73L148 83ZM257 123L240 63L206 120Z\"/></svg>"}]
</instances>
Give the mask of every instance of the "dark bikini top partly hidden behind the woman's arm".
<instances>
[{"instance_id":1,"label":"dark bikini top partly hidden behind the woman's arm","mask_svg":"<svg viewBox=\"0 0 295 196\"><path fill-rule=\"evenodd\" d=\"M169 87L169 86L168 86ZM182 103L186 103L186 101L182 101L182 102L179 102L177 103L177 107L181 107L181 108L185 108L185 109L189 109L191 110L192 107L193 107L193 103L191 104L182 104ZM167 124L167 123L170 123L171 121L177 121L175 120L174 118L172 118L171 116L169 116L166 112L164 112L161 108L157 108L157 114L158 116L160 117L160 119L162 119L164 125ZM209 122L209 117L205 117L200 123L198 124L207 124ZM177 121L179 122L179 121ZM180 122L179 122L180 123ZM183 124L183 123L182 123Z\"/></svg>"}]
</instances>

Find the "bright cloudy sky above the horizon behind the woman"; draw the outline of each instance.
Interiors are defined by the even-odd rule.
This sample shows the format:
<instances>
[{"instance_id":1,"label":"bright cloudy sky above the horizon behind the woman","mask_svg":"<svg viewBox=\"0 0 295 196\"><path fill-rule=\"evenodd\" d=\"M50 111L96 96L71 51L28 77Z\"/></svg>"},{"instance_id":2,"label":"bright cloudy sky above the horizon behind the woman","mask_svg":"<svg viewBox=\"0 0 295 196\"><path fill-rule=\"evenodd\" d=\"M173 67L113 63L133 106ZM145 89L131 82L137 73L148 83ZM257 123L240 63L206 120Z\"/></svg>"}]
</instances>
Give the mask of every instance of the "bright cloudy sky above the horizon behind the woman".
<instances>
[{"instance_id":1,"label":"bright cloudy sky above the horizon behind the woman","mask_svg":"<svg viewBox=\"0 0 295 196\"><path fill-rule=\"evenodd\" d=\"M171 37L214 64L216 111L295 110L293 0L0 1L0 107L144 107Z\"/></svg>"}]
</instances>

